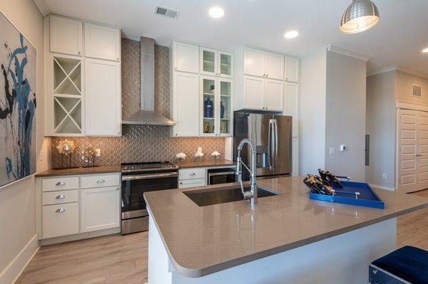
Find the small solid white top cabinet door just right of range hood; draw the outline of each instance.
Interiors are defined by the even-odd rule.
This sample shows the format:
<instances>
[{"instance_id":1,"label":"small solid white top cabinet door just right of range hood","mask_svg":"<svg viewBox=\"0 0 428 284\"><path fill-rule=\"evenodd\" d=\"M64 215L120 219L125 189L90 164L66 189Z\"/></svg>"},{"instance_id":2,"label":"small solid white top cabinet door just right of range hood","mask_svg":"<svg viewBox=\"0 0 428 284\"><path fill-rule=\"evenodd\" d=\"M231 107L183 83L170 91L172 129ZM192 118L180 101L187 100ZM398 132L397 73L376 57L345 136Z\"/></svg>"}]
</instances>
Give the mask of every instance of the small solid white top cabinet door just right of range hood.
<instances>
[{"instance_id":1,"label":"small solid white top cabinet door just right of range hood","mask_svg":"<svg viewBox=\"0 0 428 284\"><path fill-rule=\"evenodd\" d=\"M173 41L173 70L199 73L199 46Z\"/></svg>"}]
</instances>

